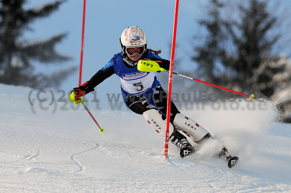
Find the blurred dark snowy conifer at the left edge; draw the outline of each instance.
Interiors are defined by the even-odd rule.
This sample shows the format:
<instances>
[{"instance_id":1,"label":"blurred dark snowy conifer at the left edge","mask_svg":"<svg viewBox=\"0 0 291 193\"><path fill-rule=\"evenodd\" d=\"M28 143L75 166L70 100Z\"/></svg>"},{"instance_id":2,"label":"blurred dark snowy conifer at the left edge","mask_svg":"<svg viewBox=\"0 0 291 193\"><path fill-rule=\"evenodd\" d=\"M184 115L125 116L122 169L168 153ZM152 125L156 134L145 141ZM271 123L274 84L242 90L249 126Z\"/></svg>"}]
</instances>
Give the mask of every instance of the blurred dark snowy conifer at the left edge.
<instances>
[{"instance_id":1,"label":"blurred dark snowy conifer at the left edge","mask_svg":"<svg viewBox=\"0 0 291 193\"><path fill-rule=\"evenodd\" d=\"M24 31L32 30L30 24L35 19L49 16L63 2L65 0L57 0L24 10L26 0L0 1L0 83L35 89L57 87L60 81L76 70L70 67L52 74L34 73L34 64L56 65L70 59L55 50L55 45L65 38L65 33L39 41L20 41ZM56 66L58 68L59 65Z\"/></svg>"}]
</instances>

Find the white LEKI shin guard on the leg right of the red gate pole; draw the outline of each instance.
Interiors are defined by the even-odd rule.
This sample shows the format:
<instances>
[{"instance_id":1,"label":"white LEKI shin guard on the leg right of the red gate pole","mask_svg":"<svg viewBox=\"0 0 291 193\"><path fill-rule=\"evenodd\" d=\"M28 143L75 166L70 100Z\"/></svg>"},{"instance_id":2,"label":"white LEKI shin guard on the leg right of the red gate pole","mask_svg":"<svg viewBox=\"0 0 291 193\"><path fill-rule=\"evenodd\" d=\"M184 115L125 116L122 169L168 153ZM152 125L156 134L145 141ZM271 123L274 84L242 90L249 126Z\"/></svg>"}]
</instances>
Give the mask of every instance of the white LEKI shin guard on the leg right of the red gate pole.
<instances>
[{"instance_id":1,"label":"white LEKI shin guard on the leg right of the red gate pole","mask_svg":"<svg viewBox=\"0 0 291 193\"><path fill-rule=\"evenodd\" d=\"M194 142L200 141L208 134L208 131L201 125L180 113L174 119L174 126L189 135Z\"/></svg>"}]
</instances>

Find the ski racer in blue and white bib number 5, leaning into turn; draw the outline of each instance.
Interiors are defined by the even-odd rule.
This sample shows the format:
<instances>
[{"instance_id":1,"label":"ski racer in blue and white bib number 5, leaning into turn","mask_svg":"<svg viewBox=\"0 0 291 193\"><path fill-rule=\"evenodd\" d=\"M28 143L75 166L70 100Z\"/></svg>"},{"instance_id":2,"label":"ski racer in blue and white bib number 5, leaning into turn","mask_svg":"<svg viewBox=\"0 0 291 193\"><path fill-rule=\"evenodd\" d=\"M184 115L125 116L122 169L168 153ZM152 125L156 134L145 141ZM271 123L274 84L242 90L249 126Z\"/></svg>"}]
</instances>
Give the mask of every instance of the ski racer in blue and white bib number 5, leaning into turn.
<instances>
[{"instance_id":1,"label":"ski racer in blue and white bib number 5, leaning into turn","mask_svg":"<svg viewBox=\"0 0 291 193\"><path fill-rule=\"evenodd\" d=\"M170 61L157 55L161 51L146 48L146 34L137 26L128 27L122 32L120 45L122 48L120 53L115 54L108 64L89 81L72 90L71 95L75 100L71 100L71 102L80 103L79 97L93 91L106 78L116 74L127 107L134 113L143 115L150 126L164 137L167 109L166 92L162 89L155 73L138 71L137 63L140 59L155 60L162 68L168 70ZM173 102L171 103L170 118L169 140L178 147L182 158L195 152L184 134L190 136L197 144L211 137L210 133L201 125L182 115ZM225 150L219 155L225 154Z\"/></svg>"}]
</instances>

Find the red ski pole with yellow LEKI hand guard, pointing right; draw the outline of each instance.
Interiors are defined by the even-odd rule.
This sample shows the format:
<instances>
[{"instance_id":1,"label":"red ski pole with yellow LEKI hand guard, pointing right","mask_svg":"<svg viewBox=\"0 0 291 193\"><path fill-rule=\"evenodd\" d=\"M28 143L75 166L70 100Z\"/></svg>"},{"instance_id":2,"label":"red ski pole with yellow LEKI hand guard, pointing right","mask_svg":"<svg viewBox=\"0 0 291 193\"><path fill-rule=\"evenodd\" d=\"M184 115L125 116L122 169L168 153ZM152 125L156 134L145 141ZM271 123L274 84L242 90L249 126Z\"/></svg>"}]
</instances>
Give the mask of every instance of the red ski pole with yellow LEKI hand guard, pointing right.
<instances>
[{"instance_id":1,"label":"red ski pole with yellow LEKI hand guard, pointing right","mask_svg":"<svg viewBox=\"0 0 291 193\"><path fill-rule=\"evenodd\" d=\"M157 72L157 71L163 71L163 72L167 72L167 73L170 72L170 71L168 71L168 70L160 67L160 65L158 64L158 62L152 61L152 60L139 60L139 62L137 64L137 69L139 71L143 71L143 72ZM188 78L188 79L191 79L191 80L194 80L194 81L197 81L197 82L201 82L203 84L207 84L207 85L210 85L212 87L216 87L218 89L224 89L224 90L227 90L229 92L233 92L233 93L236 93L236 94L240 94L242 96L246 96L250 100L257 99L257 98L254 97L254 94L246 95L246 94L243 94L243 93L240 93L240 92L231 90L231 89L226 89L224 87L220 87L220 86L217 86L217 85L213 85L211 83L208 83L208 82L204 82L202 80L198 80L198 79L195 79L195 78L191 78L189 76L185 76L185 75L178 74L178 73L174 73L174 72L173 72L173 74L176 74L178 76L181 76L181 77L184 77L184 78Z\"/></svg>"}]
</instances>

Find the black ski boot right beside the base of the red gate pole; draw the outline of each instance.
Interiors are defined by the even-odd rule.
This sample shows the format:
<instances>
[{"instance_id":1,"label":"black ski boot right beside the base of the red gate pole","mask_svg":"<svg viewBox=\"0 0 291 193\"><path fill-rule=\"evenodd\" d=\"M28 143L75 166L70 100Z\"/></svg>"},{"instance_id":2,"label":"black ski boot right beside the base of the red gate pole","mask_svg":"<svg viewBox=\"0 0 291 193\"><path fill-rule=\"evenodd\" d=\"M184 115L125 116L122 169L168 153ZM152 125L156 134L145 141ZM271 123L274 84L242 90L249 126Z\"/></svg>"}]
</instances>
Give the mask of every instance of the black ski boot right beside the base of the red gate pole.
<instances>
[{"instance_id":1,"label":"black ski boot right beside the base of the red gate pole","mask_svg":"<svg viewBox=\"0 0 291 193\"><path fill-rule=\"evenodd\" d=\"M181 158L184 158L185 156L195 152L194 148L187 141L187 138L183 134L181 134L176 128L174 129L173 134L171 134L169 140L180 150Z\"/></svg>"}]
</instances>

